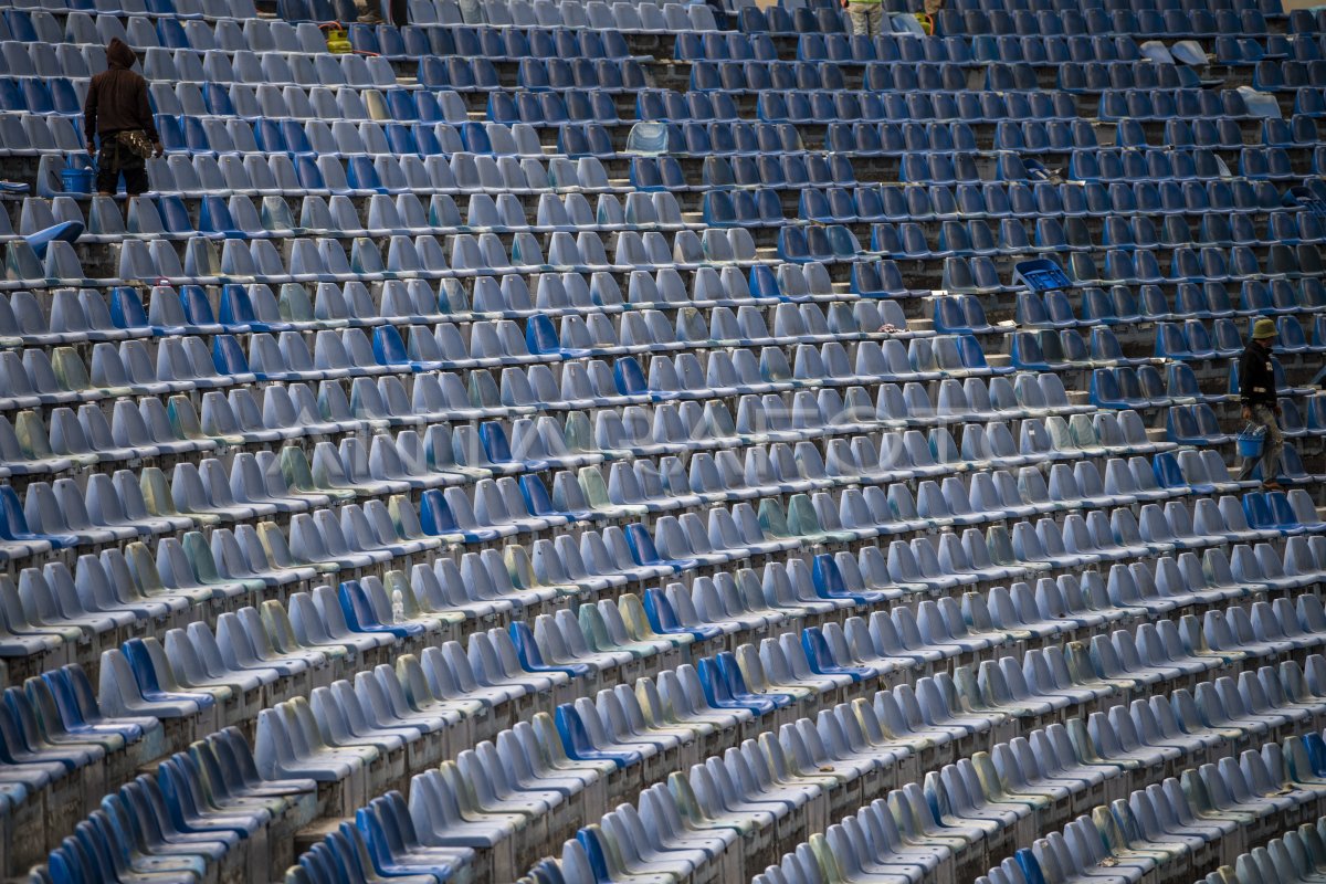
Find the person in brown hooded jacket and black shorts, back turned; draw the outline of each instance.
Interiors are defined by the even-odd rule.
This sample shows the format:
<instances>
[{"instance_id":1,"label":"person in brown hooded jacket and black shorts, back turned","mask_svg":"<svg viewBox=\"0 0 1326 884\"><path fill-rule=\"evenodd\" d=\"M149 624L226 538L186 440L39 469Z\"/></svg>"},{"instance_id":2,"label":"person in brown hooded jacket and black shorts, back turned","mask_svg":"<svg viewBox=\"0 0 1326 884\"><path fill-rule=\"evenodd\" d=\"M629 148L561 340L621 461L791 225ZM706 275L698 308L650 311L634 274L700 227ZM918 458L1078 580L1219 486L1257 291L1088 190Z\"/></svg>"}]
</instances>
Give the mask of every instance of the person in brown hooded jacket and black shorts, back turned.
<instances>
[{"instance_id":1,"label":"person in brown hooded jacket and black shorts, back turned","mask_svg":"<svg viewBox=\"0 0 1326 884\"><path fill-rule=\"evenodd\" d=\"M115 37L106 46L106 70L91 78L84 102L88 152L97 155L97 192L111 196L125 179L125 192L138 196L149 188L147 158L160 156L160 137L147 105L147 81L133 72L137 58ZM101 152L97 143L101 142Z\"/></svg>"}]
</instances>

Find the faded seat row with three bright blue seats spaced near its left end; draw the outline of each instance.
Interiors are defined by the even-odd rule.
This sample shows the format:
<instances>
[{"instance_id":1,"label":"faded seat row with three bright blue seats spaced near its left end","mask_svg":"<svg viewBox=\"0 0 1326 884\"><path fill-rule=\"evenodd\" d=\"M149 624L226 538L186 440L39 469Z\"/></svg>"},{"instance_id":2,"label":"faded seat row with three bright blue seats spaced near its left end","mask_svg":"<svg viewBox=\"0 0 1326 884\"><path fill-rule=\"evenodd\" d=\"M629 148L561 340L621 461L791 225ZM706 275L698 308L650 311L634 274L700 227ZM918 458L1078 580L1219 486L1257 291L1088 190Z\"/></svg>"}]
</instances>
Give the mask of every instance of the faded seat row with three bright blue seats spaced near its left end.
<instances>
[{"instance_id":1,"label":"faded seat row with three bright blue seats spaced near its left end","mask_svg":"<svg viewBox=\"0 0 1326 884\"><path fill-rule=\"evenodd\" d=\"M1311 292L1319 294L1319 289ZM1292 305L1293 297L1290 290L1282 296L1288 301L1280 302ZM358 280L343 286L320 282L313 286L312 293L304 284L296 282L281 285L276 293L263 284L227 284L221 286L215 309L207 292L195 284L183 285L178 290L168 285L154 285L146 307L141 293L129 286L115 286L105 297L91 289L56 289L50 298L49 315L30 292L15 292L0 298L4 334L24 338L29 345L49 346L215 334L223 330L313 331L350 323L374 326L408 317L420 322L467 322L491 319L495 314L521 319L541 313L621 313L627 306L663 311L720 309L717 315L721 321L723 307L769 307L812 301L833 305L842 301L843 296L833 292L833 284L822 265L784 264L777 268L756 265L749 273L739 268L700 268L690 285L675 268L663 268L656 273L633 270L625 294L617 280L606 272L590 274L589 278L566 272L537 274L533 285L516 274L473 277L468 288L463 280L443 280L436 289L426 280L386 280L377 300ZM1313 305L1317 304L1318 301L1313 301ZM869 327L878 318L876 327L887 322L900 330L904 325L900 323L898 309L898 305L875 306L857 301L851 313L862 327ZM1289 310L1288 306L1282 309ZM830 311L835 309L830 306ZM843 317L834 315L834 326L843 322ZM815 327L819 326L815 322ZM907 337L902 331L892 334Z\"/></svg>"}]
</instances>

